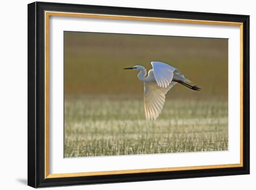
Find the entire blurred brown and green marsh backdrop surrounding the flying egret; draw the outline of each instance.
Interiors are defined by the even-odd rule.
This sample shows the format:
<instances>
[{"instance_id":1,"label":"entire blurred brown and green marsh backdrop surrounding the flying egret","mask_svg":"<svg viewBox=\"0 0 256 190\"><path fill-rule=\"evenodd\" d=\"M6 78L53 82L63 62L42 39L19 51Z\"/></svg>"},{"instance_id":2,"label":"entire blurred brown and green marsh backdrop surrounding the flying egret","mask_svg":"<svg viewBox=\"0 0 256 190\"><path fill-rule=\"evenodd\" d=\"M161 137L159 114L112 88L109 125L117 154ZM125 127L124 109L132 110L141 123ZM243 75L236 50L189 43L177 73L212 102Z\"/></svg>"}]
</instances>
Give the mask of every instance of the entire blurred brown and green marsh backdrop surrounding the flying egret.
<instances>
[{"instance_id":1,"label":"entire blurred brown and green marsh backdrop surrounding the flying egret","mask_svg":"<svg viewBox=\"0 0 256 190\"><path fill-rule=\"evenodd\" d=\"M175 85L146 121L141 65L179 69L200 92ZM228 150L228 39L64 32L64 157Z\"/></svg>"}]
</instances>

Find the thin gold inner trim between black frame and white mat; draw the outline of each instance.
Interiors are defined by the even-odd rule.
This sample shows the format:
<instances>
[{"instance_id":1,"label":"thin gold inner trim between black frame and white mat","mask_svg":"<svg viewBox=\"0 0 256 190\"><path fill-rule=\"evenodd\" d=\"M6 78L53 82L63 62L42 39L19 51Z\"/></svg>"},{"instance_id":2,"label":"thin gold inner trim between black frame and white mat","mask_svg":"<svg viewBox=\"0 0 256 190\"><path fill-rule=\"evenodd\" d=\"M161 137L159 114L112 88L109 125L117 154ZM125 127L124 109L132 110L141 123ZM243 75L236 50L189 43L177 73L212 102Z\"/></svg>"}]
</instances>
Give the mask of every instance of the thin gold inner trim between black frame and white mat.
<instances>
[{"instance_id":1,"label":"thin gold inner trim between black frame and white mat","mask_svg":"<svg viewBox=\"0 0 256 190\"><path fill-rule=\"evenodd\" d=\"M49 17L50 16L240 26L240 163L170 167L170 168L149 168L149 169L137 169L137 170L111 170L111 171L95 171L95 172L81 172L81 173L49 174ZM110 14L45 11L45 178L83 177L83 176L100 176L100 175L115 175L115 174L149 173L149 172L162 172L162 171L234 168L234 167L243 167L243 23L213 21L213 20L188 20L188 19L110 15Z\"/></svg>"}]
</instances>

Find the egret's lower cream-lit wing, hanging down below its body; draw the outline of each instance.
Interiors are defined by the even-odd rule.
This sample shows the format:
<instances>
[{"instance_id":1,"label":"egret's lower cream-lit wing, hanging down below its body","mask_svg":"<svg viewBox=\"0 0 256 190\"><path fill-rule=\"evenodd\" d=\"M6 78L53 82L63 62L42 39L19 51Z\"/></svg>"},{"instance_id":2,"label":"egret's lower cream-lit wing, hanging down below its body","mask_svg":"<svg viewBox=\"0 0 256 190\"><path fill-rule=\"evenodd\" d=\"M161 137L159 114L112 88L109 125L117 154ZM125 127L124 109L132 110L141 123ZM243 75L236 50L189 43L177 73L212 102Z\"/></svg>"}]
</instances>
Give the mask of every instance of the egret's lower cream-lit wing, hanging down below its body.
<instances>
[{"instance_id":1,"label":"egret's lower cream-lit wing, hanging down below its body","mask_svg":"<svg viewBox=\"0 0 256 190\"><path fill-rule=\"evenodd\" d=\"M155 120L162 111L165 94L176 82L171 82L166 88L159 87L156 82L144 82L144 108L147 120Z\"/></svg>"}]
</instances>

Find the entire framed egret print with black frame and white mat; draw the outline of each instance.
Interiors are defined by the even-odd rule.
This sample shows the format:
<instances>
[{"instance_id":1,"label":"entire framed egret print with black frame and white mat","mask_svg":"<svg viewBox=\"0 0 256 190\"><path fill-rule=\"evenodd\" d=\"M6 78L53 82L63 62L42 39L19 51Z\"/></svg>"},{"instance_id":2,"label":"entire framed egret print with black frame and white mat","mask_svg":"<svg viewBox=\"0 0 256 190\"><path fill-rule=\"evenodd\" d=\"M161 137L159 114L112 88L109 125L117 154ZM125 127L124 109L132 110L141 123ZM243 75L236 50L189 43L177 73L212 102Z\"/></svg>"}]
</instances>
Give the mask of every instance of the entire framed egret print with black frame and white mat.
<instances>
[{"instance_id":1,"label":"entire framed egret print with black frame and white mat","mask_svg":"<svg viewBox=\"0 0 256 190\"><path fill-rule=\"evenodd\" d=\"M28 185L249 174L249 16L28 4Z\"/></svg>"}]
</instances>

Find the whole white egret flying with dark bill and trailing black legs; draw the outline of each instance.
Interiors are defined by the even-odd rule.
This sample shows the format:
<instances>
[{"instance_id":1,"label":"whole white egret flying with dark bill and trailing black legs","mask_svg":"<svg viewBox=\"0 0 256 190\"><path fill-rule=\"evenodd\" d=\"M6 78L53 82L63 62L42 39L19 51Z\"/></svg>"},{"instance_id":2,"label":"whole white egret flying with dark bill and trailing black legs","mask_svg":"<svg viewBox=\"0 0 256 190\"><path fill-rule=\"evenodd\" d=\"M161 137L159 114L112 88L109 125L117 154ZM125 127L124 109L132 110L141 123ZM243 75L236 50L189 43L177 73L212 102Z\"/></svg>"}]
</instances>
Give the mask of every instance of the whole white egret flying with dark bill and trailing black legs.
<instances>
[{"instance_id":1,"label":"whole white egret flying with dark bill and trailing black legs","mask_svg":"<svg viewBox=\"0 0 256 190\"><path fill-rule=\"evenodd\" d=\"M134 66L124 69L140 71L138 78L144 82L144 108L147 120L155 120L162 111L166 93L177 83L194 91L200 91L198 86L192 86L181 72L166 63L152 61L153 69L148 71L143 66Z\"/></svg>"}]
</instances>

